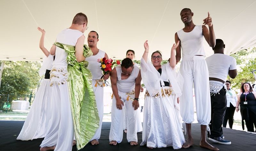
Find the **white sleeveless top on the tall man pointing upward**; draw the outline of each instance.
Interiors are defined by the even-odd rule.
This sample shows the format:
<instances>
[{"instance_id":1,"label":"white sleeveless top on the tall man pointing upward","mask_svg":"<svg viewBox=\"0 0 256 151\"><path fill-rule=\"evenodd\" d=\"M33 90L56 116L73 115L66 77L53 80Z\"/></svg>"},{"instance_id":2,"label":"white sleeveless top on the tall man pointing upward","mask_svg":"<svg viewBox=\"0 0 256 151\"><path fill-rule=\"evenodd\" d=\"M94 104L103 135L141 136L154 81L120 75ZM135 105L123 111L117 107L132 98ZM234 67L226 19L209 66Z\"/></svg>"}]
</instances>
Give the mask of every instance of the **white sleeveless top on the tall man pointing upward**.
<instances>
[{"instance_id":1,"label":"white sleeveless top on the tall man pointing upward","mask_svg":"<svg viewBox=\"0 0 256 151\"><path fill-rule=\"evenodd\" d=\"M184 32L183 29L181 29L177 34L180 39L182 57L190 57L194 55L203 55L205 57L202 25L196 25L190 32Z\"/></svg>"}]
</instances>

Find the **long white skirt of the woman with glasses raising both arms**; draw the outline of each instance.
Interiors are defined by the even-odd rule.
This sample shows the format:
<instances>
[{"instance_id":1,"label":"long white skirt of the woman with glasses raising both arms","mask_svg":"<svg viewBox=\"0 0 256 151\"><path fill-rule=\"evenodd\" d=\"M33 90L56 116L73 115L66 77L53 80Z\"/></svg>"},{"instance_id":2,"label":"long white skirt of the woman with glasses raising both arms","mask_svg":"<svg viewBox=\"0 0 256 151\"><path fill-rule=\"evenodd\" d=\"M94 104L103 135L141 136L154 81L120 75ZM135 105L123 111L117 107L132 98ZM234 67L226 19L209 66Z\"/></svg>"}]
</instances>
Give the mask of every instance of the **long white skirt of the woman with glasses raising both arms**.
<instances>
[{"instance_id":1,"label":"long white skirt of the woman with glasses raising both arms","mask_svg":"<svg viewBox=\"0 0 256 151\"><path fill-rule=\"evenodd\" d=\"M185 138L172 96L146 96L140 146L147 144L147 147L153 148L172 146L173 149L180 149L184 143Z\"/></svg>"}]
</instances>

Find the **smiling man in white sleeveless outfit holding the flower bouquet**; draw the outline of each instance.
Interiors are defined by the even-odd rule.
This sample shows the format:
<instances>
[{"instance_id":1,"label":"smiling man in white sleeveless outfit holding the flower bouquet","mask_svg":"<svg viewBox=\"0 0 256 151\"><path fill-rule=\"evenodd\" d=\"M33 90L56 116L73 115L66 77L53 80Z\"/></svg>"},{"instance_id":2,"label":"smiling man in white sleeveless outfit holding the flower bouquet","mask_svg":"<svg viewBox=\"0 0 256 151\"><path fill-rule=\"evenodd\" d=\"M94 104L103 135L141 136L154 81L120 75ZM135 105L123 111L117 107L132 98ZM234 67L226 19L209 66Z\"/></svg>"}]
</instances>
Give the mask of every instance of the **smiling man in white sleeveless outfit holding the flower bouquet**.
<instances>
[{"instance_id":1,"label":"smiling man in white sleeveless outfit holding the flower bouquet","mask_svg":"<svg viewBox=\"0 0 256 151\"><path fill-rule=\"evenodd\" d=\"M91 48L93 55L87 57L85 60L89 62L88 69L92 72L92 87L95 94L96 104L99 112L100 123L99 128L95 132L94 136L90 140L92 145L98 145L101 133L102 119L103 119L103 92L104 92L104 80L109 78L109 74L102 77L101 63L98 59L106 57L108 59L107 53L97 48L97 43L99 41L99 35L96 31L91 31L88 34L87 42L88 46Z\"/></svg>"}]
</instances>

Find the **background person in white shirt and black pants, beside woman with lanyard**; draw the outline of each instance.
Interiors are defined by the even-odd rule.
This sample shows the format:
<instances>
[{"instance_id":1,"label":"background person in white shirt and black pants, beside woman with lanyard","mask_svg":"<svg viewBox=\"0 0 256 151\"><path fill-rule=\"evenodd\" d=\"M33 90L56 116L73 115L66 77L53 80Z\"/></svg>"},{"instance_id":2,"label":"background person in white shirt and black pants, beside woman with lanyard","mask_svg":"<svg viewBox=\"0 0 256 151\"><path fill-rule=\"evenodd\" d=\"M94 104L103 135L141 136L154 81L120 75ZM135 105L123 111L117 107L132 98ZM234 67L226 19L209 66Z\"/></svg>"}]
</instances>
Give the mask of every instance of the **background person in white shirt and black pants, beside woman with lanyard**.
<instances>
[{"instance_id":1,"label":"background person in white shirt and black pants, beside woman with lanyard","mask_svg":"<svg viewBox=\"0 0 256 151\"><path fill-rule=\"evenodd\" d=\"M226 81L226 86L227 86L227 109L225 112L224 120L223 120L223 127L227 126L227 123L229 125L229 128L232 129L233 126L233 118L234 118L234 113L236 110L236 102L237 102L237 97L236 97L236 92L230 88L231 82Z\"/></svg>"}]
</instances>

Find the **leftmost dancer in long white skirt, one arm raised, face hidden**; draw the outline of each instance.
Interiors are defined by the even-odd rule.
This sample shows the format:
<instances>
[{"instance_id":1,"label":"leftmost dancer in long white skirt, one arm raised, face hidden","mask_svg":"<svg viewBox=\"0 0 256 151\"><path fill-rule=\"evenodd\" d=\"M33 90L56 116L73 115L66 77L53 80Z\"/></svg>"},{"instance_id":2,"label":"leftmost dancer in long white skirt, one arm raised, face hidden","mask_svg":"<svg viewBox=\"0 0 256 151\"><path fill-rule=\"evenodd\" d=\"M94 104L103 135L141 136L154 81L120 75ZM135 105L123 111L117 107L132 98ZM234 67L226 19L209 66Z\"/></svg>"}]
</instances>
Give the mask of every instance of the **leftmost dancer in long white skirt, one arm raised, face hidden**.
<instances>
[{"instance_id":1,"label":"leftmost dancer in long white skirt, one arm raised, face hidden","mask_svg":"<svg viewBox=\"0 0 256 151\"><path fill-rule=\"evenodd\" d=\"M46 131L46 122L48 123L50 119L50 71L52 69L53 56L50 55L50 52L44 47L44 29L41 29L40 27L37 29L42 32L39 47L46 56L43 60L43 65L39 70L39 76L43 76L44 73L45 75L40 87L38 88L38 91L36 92L36 97L28 113L26 121L23 124L19 136L17 137L18 140L43 138Z\"/></svg>"}]
</instances>

